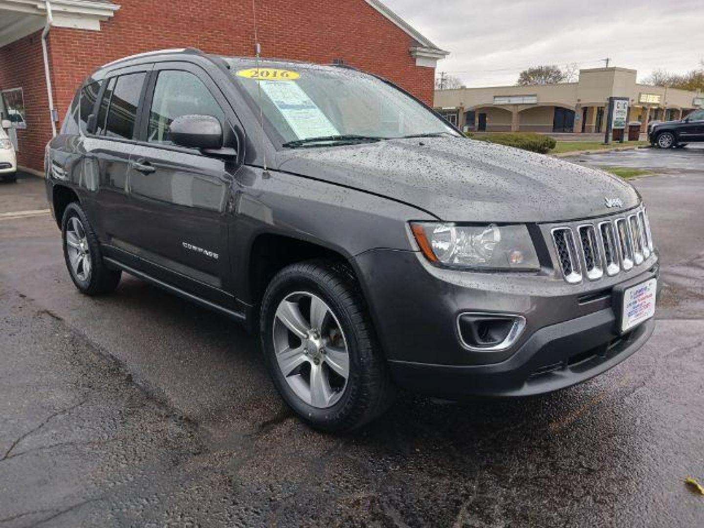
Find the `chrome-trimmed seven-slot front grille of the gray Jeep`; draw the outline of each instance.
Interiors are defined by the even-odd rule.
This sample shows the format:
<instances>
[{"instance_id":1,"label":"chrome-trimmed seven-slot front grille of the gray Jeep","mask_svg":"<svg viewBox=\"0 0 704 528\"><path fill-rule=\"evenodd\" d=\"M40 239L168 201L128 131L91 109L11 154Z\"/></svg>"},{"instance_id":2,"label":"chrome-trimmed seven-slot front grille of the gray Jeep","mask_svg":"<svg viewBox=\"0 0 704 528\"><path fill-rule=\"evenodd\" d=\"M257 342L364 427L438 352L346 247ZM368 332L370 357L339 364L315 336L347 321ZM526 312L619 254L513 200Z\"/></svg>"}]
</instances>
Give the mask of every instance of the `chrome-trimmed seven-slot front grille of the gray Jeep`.
<instances>
[{"instance_id":1,"label":"chrome-trimmed seven-slot front grille of the gray Jeep","mask_svg":"<svg viewBox=\"0 0 704 528\"><path fill-rule=\"evenodd\" d=\"M653 237L645 210L593 223L552 230L562 276L577 284L628 271L653 254Z\"/></svg>"}]
</instances>

